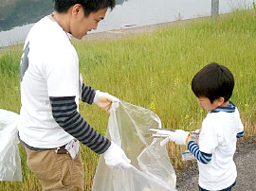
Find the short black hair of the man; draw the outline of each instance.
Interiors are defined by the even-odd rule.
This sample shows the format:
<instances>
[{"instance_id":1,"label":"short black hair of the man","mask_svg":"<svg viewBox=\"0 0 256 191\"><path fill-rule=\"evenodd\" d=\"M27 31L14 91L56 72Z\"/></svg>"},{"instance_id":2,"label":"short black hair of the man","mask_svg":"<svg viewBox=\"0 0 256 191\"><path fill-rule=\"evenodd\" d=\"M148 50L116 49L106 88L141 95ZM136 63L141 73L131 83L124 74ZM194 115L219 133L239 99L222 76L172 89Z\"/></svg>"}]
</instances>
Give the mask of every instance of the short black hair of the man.
<instances>
[{"instance_id":1,"label":"short black hair of the man","mask_svg":"<svg viewBox=\"0 0 256 191\"><path fill-rule=\"evenodd\" d=\"M116 0L55 0L54 9L58 12L66 12L71 6L82 5L84 15L88 16L91 12L97 12L100 9L116 6Z\"/></svg>"}]
</instances>

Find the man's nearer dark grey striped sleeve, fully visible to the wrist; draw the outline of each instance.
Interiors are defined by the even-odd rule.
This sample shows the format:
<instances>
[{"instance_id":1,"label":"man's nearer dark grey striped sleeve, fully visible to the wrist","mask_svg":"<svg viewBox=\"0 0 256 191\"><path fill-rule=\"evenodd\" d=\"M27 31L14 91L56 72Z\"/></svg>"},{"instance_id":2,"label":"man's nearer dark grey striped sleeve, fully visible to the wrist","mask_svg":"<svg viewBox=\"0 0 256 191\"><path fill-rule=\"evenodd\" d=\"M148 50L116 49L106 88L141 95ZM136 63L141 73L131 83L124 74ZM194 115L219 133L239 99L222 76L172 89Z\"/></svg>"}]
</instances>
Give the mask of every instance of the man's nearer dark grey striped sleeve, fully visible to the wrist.
<instances>
[{"instance_id":1,"label":"man's nearer dark grey striped sleeve, fully visible to the wrist","mask_svg":"<svg viewBox=\"0 0 256 191\"><path fill-rule=\"evenodd\" d=\"M90 127L82 115L77 112L75 96L50 96L49 98L55 121L67 133L98 154L110 147L110 141Z\"/></svg>"}]
</instances>

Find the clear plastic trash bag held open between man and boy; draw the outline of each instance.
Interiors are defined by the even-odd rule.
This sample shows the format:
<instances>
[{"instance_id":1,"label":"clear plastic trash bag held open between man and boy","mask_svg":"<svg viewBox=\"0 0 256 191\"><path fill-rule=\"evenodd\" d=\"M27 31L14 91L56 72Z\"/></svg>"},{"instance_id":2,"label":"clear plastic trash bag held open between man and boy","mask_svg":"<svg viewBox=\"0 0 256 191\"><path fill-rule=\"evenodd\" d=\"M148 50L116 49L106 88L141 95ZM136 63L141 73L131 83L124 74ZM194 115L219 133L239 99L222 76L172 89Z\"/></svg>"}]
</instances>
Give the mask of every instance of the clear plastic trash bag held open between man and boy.
<instances>
[{"instance_id":1,"label":"clear plastic trash bag held open between man and boy","mask_svg":"<svg viewBox=\"0 0 256 191\"><path fill-rule=\"evenodd\" d=\"M100 156L92 191L173 191L176 176L161 139L148 136L142 127L161 128L159 117L150 110L120 101L110 111L106 137L131 159L130 169L111 169Z\"/></svg>"}]
</instances>

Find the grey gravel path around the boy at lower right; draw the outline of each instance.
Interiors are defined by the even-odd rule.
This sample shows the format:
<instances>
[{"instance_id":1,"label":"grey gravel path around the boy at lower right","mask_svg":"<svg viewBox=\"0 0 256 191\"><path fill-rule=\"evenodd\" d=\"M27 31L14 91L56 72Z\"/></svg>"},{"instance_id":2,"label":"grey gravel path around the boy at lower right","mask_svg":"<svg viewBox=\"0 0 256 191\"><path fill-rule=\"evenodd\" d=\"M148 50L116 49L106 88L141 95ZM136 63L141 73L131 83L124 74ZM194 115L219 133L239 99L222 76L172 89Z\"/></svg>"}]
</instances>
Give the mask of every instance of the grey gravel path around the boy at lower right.
<instances>
[{"instance_id":1,"label":"grey gravel path around the boy at lower right","mask_svg":"<svg viewBox=\"0 0 256 191\"><path fill-rule=\"evenodd\" d=\"M237 182L232 191L256 191L256 137L239 142L234 155L237 166ZM196 163L176 172L178 191L198 190L198 169Z\"/></svg>"}]
</instances>

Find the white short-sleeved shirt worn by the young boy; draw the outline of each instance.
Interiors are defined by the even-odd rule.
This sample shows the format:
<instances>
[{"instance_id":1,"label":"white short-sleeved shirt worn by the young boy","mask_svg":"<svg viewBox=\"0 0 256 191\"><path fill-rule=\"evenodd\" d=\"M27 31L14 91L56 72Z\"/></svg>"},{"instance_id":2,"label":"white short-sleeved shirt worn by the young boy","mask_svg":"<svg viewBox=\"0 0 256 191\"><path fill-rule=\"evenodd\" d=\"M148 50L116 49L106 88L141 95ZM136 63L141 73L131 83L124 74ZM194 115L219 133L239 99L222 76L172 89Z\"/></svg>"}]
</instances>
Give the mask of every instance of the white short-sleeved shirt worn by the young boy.
<instances>
[{"instance_id":1,"label":"white short-sleeved shirt worn by the young boy","mask_svg":"<svg viewBox=\"0 0 256 191\"><path fill-rule=\"evenodd\" d=\"M212 153L209 164L198 162L199 185L207 190L221 190L229 187L237 177L233 155L236 150L236 134L244 130L240 114L208 113L202 123L199 135L199 149Z\"/></svg>"}]
</instances>

